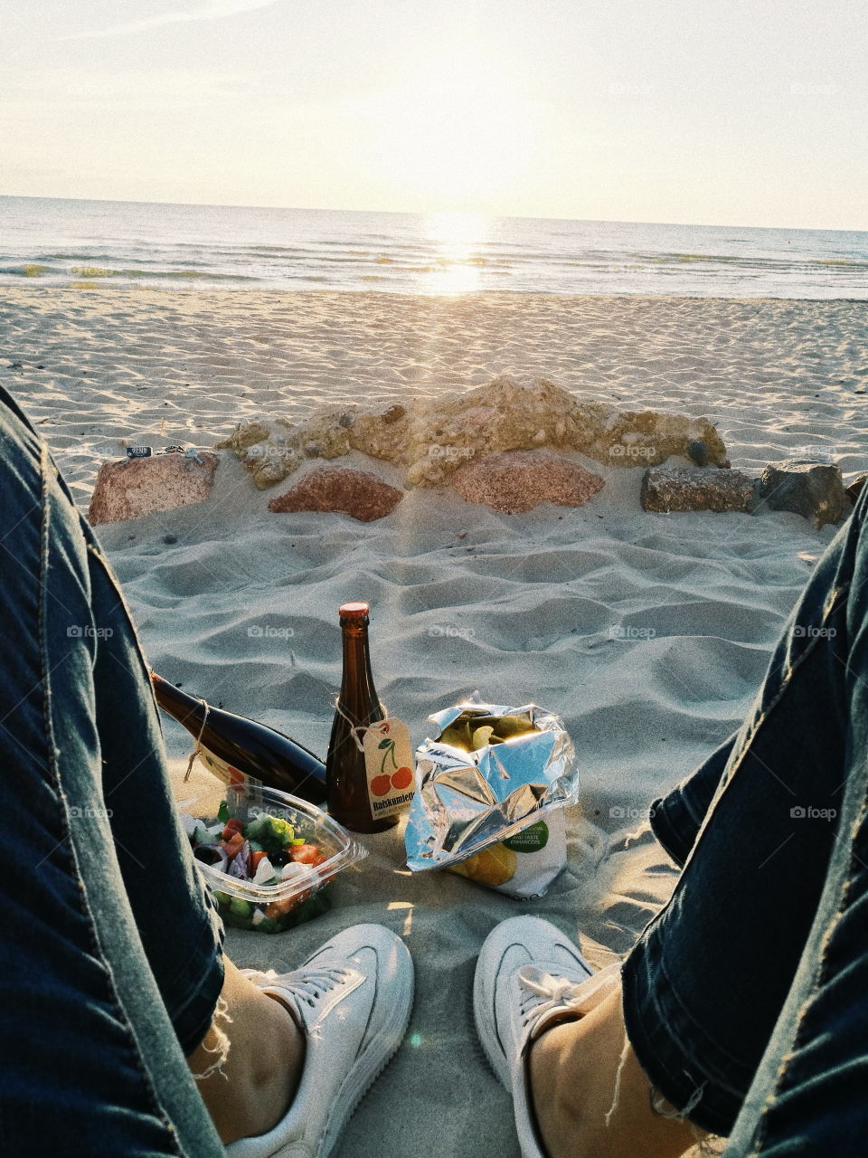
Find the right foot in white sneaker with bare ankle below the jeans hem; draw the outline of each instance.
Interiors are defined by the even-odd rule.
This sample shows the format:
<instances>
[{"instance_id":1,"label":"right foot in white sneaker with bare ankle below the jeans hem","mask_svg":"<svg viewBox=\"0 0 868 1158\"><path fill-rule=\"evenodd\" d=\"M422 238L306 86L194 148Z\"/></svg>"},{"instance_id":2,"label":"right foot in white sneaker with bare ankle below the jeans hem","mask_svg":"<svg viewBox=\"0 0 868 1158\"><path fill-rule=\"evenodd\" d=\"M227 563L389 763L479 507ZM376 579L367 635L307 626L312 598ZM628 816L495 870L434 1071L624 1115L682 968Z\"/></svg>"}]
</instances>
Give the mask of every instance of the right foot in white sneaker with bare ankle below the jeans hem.
<instances>
[{"instance_id":1,"label":"right foot in white sneaker with bare ankle below the jeans hem","mask_svg":"<svg viewBox=\"0 0 868 1158\"><path fill-rule=\"evenodd\" d=\"M619 1009L618 966L591 975L547 921L510 917L486 938L473 1013L524 1158L669 1158L694 1141L690 1124L655 1115L647 1078L623 1057Z\"/></svg>"}]
</instances>

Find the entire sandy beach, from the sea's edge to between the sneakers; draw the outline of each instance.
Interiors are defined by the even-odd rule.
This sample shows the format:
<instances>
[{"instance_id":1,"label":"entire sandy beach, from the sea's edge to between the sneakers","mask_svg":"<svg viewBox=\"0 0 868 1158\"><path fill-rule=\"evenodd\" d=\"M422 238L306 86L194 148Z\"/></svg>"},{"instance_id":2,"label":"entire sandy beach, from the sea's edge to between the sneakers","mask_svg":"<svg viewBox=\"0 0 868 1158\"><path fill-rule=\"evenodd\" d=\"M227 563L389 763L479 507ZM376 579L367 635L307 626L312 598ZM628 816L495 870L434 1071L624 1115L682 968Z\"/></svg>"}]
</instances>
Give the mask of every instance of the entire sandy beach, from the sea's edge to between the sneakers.
<instances>
[{"instance_id":1,"label":"entire sandy beach, from the sea's edge to between the sneakers","mask_svg":"<svg viewBox=\"0 0 868 1158\"><path fill-rule=\"evenodd\" d=\"M208 447L245 418L435 397L505 373L706 417L749 472L822 454L847 482L868 469L867 313L848 301L22 287L0 303L0 382L82 510L101 462L126 444ZM557 711L575 743L582 804L569 866L544 902L413 877L399 835L385 834L366 838L372 856L338 881L331 914L277 938L233 933L238 963L260 967L293 966L356 921L407 939L410 1034L340 1158L517 1158L469 1014L479 944L528 911L580 936L595 965L630 947L675 879L648 805L741 721L834 534L788 513L645 513L642 470L601 468L604 489L579 508L502 515L419 489L359 523L270 514L272 494L227 457L206 503L98 529L153 666L319 753L348 599L372 603L377 688L414 741L429 712L478 689ZM249 630L267 626L281 630ZM177 771L186 733L165 731Z\"/></svg>"}]
</instances>

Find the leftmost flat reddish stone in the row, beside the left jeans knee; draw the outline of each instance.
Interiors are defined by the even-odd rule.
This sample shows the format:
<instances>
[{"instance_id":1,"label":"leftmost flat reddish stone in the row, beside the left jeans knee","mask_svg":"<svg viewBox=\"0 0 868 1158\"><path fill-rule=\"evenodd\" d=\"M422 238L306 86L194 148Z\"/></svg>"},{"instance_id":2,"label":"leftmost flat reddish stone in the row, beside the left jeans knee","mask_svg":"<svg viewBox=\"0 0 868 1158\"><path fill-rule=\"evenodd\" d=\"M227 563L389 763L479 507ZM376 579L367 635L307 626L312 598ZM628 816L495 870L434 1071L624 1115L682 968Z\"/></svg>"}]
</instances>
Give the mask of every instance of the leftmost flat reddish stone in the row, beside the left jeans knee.
<instances>
[{"instance_id":1,"label":"leftmost flat reddish stone in the row, beside the left jeans knee","mask_svg":"<svg viewBox=\"0 0 868 1158\"><path fill-rule=\"evenodd\" d=\"M94 526L120 522L203 503L214 484L220 459L207 450L200 450L199 457L201 462L183 454L155 454L104 462L96 476L88 520Z\"/></svg>"}]
</instances>

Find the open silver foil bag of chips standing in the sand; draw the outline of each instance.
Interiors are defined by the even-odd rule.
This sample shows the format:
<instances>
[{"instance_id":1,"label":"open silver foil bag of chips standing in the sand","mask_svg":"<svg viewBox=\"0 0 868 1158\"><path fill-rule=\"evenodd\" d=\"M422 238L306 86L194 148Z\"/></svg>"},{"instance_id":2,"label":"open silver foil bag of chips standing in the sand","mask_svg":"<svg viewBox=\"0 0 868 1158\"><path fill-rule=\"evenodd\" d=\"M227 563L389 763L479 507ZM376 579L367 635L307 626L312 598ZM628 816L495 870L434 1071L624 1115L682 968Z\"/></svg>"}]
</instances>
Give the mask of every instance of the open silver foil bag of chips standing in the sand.
<instances>
[{"instance_id":1,"label":"open silver foil bag of chips standing in the sand","mask_svg":"<svg viewBox=\"0 0 868 1158\"><path fill-rule=\"evenodd\" d=\"M450 868L510 896L542 896L566 865L562 808L578 799L562 723L536 704L463 704L428 717L405 834L413 872Z\"/></svg>"}]
</instances>

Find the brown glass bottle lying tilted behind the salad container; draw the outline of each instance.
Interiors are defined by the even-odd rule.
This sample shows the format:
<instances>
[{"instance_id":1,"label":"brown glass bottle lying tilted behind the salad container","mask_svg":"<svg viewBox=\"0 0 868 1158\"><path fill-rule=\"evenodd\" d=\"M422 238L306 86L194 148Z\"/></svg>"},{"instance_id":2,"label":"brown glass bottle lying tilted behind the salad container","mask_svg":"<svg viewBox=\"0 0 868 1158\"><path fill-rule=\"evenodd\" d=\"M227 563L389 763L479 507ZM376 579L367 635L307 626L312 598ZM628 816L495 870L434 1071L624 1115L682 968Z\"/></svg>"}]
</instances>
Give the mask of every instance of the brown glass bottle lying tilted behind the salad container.
<instances>
[{"instance_id":1,"label":"brown glass bottle lying tilted behind the salad container","mask_svg":"<svg viewBox=\"0 0 868 1158\"><path fill-rule=\"evenodd\" d=\"M150 682L156 702L199 741L204 763L222 779L252 776L310 804L325 801L325 765L312 752L265 724L212 708L156 672Z\"/></svg>"}]
</instances>

